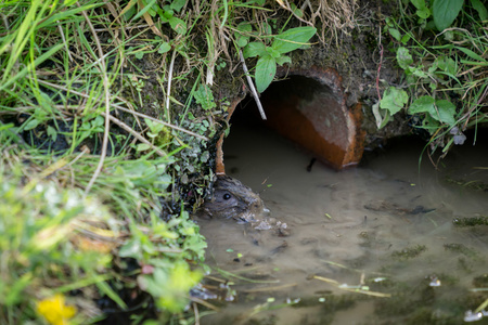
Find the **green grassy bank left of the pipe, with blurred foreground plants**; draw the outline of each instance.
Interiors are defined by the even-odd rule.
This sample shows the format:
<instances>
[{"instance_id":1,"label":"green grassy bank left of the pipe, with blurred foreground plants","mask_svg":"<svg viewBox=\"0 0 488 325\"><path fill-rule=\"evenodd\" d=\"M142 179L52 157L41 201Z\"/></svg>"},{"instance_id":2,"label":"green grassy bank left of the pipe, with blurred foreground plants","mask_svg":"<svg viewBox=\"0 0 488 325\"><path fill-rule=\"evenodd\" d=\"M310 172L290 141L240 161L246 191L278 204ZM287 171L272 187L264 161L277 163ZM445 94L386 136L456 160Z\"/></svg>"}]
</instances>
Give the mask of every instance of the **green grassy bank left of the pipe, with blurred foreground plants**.
<instances>
[{"instance_id":1,"label":"green grassy bank left of the pipe, with blurred foreground plants","mask_svg":"<svg viewBox=\"0 0 488 325\"><path fill-rule=\"evenodd\" d=\"M237 25L260 40L332 14L318 5L1 2L0 323L179 322L189 303L197 322L206 243L187 211L242 89ZM219 94L224 69L237 82Z\"/></svg>"}]
</instances>

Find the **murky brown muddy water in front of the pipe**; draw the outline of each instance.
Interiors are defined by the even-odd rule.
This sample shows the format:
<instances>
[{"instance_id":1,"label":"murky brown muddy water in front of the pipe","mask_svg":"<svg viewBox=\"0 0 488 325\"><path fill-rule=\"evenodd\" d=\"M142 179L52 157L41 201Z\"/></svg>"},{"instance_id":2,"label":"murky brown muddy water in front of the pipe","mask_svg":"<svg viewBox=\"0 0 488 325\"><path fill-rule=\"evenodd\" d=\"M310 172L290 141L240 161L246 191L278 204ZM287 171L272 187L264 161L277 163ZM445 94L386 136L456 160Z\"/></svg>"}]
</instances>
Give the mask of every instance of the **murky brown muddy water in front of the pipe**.
<instances>
[{"instance_id":1,"label":"murky brown muddy water in front of the pipe","mask_svg":"<svg viewBox=\"0 0 488 325\"><path fill-rule=\"evenodd\" d=\"M290 235L202 221L221 300L201 324L462 324L488 298L473 291L488 287L488 226L453 225L488 214L488 194L472 188L488 183L473 168L488 166L487 146L458 147L439 170L426 156L419 168L423 144L410 140L356 169L307 171L312 157L271 131L231 133L228 174Z\"/></svg>"}]
</instances>

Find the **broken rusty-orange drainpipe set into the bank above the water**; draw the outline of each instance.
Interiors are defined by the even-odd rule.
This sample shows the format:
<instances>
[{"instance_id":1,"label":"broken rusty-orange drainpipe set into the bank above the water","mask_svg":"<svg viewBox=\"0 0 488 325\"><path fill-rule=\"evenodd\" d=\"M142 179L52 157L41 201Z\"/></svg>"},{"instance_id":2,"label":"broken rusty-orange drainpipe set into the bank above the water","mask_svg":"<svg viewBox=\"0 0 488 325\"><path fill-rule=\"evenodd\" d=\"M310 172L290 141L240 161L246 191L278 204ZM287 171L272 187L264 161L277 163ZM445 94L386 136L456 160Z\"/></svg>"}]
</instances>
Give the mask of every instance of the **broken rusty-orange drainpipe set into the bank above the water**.
<instances>
[{"instance_id":1,"label":"broken rusty-orange drainpipe set into the bank above the water","mask_svg":"<svg viewBox=\"0 0 488 325\"><path fill-rule=\"evenodd\" d=\"M285 75L286 73L286 75ZM347 107L341 77L334 69L312 67L279 72L261 94L265 125L309 151L317 159L341 170L356 166L363 153L360 104ZM237 106L245 115L258 115L254 99L234 101L229 119ZM233 117L235 116L235 117ZM224 173L222 138L217 144L217 173Z\"/></svg>"}]
</instances>

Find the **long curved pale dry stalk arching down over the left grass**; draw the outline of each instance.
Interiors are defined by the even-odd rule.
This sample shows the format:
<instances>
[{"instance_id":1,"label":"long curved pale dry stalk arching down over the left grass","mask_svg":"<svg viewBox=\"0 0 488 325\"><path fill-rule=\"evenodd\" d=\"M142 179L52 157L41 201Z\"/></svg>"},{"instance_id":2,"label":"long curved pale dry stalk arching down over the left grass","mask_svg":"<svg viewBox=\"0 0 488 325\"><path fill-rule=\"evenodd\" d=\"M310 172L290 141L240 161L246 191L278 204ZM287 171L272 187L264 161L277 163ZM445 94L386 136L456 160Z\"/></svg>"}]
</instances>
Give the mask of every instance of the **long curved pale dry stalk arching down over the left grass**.
<instances>
[{"instance_id":1,"label":"long curved pale dry stalk arching down over the left grass","mask_svg":"<svg viewBox=\"0 0 488 325\"><path fill-rule=\"evenodd\" d=\"M80 6L78 2L76 4L78 6ZM91 24L91 21L88 17L87 12L81 11L81 14L84 15L85 20L87 21L88 26L90 26L91 34L93 35L93 39L97 42L97 49L99 50L99 56L101 58L99 64L100 64L101 73L103 74L103 88L105 90L105 130L103 132L102 152L100 153L99 165L97 166L97 169L95 169L93 176L91 177L90 182L88 183L87 187L85 188L85 195L87 195L90 192L91 186L93 186L100 172L102 171L103 162L106 157L106 148L108 146L108 132L111 129L111 121L108 118L111 116L111 95L110 95L110 89L108 89L108 77L106 76L105 60L103 60L102 44L100 43L100 39L97 36L97 31L94 31L94 27Z\"/></svg>"}]
</instances>

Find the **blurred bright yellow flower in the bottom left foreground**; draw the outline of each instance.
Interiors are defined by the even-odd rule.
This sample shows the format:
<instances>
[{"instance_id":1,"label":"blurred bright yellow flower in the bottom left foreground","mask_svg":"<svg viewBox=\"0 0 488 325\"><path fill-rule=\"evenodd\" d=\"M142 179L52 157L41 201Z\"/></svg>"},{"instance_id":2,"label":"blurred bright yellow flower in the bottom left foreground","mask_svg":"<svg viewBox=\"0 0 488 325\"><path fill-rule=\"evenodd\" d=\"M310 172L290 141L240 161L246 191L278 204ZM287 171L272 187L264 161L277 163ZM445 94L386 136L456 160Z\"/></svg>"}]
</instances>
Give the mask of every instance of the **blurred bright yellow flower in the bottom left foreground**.
<instances>
[{"instance_id":1,"label":"blurred bright yellow flower in the bottom left foreground","mask_svg":"<svg viewBox=\"0 0 488 325\"><path fill-rule=\"evenodd\" d=\"M63 295L54 295L36 303L38 314L51 325L68 325L69 318L76 314L76 308L66 306Z\"/></svg>"}]
</instances>

